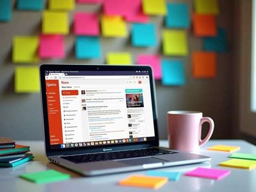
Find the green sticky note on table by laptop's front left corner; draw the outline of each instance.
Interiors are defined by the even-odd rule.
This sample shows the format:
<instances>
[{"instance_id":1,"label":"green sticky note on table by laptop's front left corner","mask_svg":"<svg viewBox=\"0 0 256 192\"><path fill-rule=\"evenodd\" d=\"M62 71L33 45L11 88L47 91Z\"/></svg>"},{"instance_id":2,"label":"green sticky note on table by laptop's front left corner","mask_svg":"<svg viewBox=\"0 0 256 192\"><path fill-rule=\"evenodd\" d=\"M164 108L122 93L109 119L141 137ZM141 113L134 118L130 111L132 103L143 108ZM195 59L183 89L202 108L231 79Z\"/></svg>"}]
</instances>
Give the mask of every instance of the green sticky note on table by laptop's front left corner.
<instances>
[{"instance_id":1,"label":"green sticky note on table by laptop's front left corner","mask_svg":"<svg viewBox=\"0 0 256 192\"><path fill-rule=\"evenodd\" d=\"M35 183L48 183L62 181L70 178L69 174L63 174L55 170L46 170L34 173L27 173L20 175L20 178L35 182Z\"/></svg>"}]
</instances>

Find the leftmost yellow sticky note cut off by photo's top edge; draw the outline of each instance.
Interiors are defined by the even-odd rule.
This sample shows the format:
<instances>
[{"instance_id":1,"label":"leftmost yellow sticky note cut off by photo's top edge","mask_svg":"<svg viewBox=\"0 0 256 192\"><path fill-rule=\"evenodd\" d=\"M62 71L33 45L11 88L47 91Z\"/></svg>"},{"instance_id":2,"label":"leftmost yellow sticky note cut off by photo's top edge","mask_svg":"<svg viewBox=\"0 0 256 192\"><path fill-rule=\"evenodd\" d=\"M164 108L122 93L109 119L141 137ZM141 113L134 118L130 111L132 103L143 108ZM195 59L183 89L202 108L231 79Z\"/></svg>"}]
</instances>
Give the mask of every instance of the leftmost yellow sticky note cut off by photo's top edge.
<instances>
[{"instance_id":1,"label":"leftmost yellow sticky note cut off by photo's top edge","mask_svg":"<svg viewBox=\"0 0 256 192\"><path fill-rule=\"evenodd\" d=\"M74 0L49 0L49 9L73 10L74 7L75 7Z\"/></svg>"}]
</instances>

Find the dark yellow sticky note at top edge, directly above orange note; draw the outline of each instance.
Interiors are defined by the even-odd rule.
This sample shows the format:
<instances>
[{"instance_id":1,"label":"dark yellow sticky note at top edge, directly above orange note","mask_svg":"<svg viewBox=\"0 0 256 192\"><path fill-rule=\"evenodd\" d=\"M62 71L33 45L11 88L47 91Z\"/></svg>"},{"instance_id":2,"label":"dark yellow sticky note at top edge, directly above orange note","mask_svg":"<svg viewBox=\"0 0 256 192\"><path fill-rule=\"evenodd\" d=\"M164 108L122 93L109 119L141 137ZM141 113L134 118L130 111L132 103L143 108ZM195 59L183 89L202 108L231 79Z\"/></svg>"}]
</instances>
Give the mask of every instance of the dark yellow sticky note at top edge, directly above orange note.
<instances>
[{"instance_id":1,"label":"dark yellow sticky note at top edge, directly above orange note","mask_svg":"<svg viewBox=\"0 0 256 192\"><path fill-rule=\"evenodd\" d=\"M214 14L220 12L218 0L194 0L195 12L198 14Z\"/></svg>"}]
</instances>

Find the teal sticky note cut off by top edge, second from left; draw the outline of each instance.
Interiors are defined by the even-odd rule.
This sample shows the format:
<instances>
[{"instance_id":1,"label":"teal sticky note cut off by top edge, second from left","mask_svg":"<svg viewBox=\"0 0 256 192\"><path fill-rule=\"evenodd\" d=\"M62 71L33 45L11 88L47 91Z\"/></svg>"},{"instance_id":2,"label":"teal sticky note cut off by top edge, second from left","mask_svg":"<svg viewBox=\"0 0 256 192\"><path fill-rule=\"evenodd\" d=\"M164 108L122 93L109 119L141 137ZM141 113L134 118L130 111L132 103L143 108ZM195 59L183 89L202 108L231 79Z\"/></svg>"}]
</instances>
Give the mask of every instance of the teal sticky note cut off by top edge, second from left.
<instances>
[{"instance_id":1,"label":"teal sticky note cut off by top edge, second from left","mask_svg":"<svg viewBox=\"0 0 256 192\"><path fill-rule=\"evenodd\" d=\"M18 10L35 10L40 11L44 8L43 0L17 0Z\"/></svg>"}]
</instances>

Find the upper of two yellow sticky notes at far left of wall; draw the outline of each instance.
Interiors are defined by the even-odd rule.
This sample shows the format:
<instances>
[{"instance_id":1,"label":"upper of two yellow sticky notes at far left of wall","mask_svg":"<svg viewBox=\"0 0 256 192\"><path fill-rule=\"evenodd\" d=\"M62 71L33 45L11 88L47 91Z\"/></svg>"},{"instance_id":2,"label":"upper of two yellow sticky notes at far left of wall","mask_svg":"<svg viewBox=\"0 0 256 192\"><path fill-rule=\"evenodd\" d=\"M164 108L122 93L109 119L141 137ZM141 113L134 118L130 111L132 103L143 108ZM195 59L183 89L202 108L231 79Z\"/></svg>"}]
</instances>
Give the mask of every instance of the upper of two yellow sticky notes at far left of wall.
<instances>
[{"instance_id":1,"label":"upper of two yellow sticky notes at far left of wall","mask_svg":"<svg viewBox=\"0 0 256 192\"><path fill-rule=\"evenodd\" d=\"M38 62L38 37L15 36L12 42L12 62L35 63Z\"/></svg>"}]
</instances>

